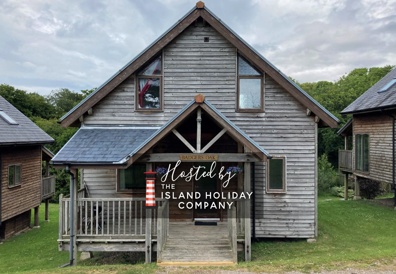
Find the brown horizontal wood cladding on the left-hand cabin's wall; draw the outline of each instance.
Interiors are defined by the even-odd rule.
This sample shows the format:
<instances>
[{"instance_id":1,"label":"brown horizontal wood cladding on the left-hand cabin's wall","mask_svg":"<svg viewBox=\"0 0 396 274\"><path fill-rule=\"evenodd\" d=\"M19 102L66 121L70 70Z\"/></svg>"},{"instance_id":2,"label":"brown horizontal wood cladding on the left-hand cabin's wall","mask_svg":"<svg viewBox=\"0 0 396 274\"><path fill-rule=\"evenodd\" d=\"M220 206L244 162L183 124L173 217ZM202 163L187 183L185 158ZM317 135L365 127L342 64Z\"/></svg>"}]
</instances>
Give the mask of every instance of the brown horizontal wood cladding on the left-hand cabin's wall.
<instances>
[{"instance_id":1,"label":"brown horizontal wood cladding on the left-hand cabin's wall","mask_svg":"<svg viewBox=\"0 0 396 274\"><path fill-rule=\"evenodd\" d=\"M41 204L41 145L2 149L2 221ZM22 164L22 184L8 188L8 165Z\"/></svg>"}]
</instances>

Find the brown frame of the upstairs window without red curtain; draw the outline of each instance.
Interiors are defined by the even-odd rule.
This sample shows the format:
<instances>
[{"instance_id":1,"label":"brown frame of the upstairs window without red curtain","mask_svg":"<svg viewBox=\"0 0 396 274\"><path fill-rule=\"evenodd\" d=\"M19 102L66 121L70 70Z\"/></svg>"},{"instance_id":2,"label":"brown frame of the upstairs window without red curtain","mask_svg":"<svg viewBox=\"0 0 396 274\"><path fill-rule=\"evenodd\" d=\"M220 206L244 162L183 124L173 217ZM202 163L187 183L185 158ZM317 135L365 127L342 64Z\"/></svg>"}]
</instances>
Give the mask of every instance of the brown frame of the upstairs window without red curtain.
<instances>
[{"instance_id":1,"label":"brown frame of the upstairs window without red curtain","mask_svg":"<svg viewBox=\"0 0 396 274\"><path fill-rule=\"evenodd\" d=\"M241 57L246 63L248 63L251 67L253 67L257 72L261 73L262 75L239 75L239 60L238 57ZM250 61L248 61L245 57L240 55L239 53L236 54L236 111L237 112L264 112L265 111L265 97L264 97L264 85L265 85L265 73L261 72L257 69ZM240 108L239 107L239 80L240 79L261 79L261 90L260 90L260 108Z\"/></svg>"}]
</instances>

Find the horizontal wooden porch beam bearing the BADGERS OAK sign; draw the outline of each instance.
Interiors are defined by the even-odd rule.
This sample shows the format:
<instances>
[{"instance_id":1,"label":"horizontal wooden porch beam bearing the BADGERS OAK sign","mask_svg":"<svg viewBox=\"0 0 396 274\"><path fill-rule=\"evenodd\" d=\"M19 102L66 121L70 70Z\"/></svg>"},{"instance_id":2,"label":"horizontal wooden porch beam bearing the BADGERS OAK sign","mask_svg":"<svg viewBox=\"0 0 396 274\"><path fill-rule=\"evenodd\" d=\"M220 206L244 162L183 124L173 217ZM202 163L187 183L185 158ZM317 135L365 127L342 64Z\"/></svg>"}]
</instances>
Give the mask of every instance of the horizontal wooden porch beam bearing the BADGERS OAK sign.
<instances>
[{"instance_id":1,"label":"horizontal wooden porch beam bearing the BADGERS OAK sign","mask_svg":"<svg viewBox=\"0 0 396 274\"><path fill-rule=\"evenodd\" d=\"M189 155L205 156L218 155L217 162L260 162L261 159L253 153L194 153ZM144 154L136 162L177 162L181 153L151 153ZM187 160L183 162L196 162Z\"/></svg>"}]
</instances>

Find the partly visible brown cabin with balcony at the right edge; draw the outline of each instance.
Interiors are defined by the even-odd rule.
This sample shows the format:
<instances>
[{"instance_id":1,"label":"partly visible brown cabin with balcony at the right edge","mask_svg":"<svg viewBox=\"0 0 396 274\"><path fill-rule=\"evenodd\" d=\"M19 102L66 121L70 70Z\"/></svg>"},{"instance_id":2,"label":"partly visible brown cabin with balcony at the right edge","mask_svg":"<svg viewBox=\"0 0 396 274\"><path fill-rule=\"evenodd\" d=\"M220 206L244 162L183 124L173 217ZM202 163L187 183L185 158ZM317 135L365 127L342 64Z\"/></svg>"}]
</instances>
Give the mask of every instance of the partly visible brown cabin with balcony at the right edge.
<instances>
[{"instance_id":1,"label":"partly visible brown cabin with balcony at the right edge","mask_svg":"<svg viewBox=\"0 0 396 274\"><path fill-rule=\"evenodd\" d=\"M360 179L392 184L394 188L396 68L341 114L353 115L338 131L338 135L345 137L345 148L339 150L339 170L345 174L345 192L348 191L347 177L351 174L355 177L354 199L360 199ZM347 193L345 199L348 199Z\"/></svg>"}]
</instances>

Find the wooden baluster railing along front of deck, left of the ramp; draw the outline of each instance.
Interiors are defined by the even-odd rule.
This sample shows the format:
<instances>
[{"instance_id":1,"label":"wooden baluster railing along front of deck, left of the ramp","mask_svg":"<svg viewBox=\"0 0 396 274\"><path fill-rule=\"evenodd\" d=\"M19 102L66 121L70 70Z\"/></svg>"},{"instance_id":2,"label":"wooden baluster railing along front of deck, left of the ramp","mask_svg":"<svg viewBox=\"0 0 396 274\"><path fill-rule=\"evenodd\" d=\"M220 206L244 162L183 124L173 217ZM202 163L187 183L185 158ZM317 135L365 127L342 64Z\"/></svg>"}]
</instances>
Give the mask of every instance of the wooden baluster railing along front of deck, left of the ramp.
<instances>
[{"instance_id":1,"label":"wooden baluster railing along front of deck, left of the ramp","mask_svg":"<svg viewBox=\"0 0 396 274\"><path fill-rule=\"evenodd\" d=\"M79 192L79 193L84 193ZM77 197L76 236L141 236L146 233L145 198ZM161 204L164 200L157 200ZM169 210L169 207L168 209ZM168 215L169 216L169 215ZM152 235L157 234L156 209L152 210ZM59 196L59 239L70 236L70 198Z\"/></svg>"}]
</instances>

